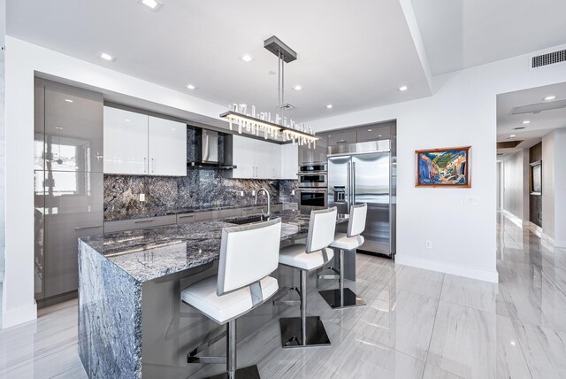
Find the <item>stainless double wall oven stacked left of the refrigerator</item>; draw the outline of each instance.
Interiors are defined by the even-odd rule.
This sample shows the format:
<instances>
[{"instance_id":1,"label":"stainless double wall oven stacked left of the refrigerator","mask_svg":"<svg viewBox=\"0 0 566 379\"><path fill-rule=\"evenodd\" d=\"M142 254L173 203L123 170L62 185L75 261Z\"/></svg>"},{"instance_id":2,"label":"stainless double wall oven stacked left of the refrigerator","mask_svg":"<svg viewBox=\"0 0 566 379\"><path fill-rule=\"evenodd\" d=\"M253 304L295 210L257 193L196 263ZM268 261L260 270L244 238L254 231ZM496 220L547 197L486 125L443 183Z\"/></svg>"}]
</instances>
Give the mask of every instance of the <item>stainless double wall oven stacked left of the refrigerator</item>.
<instances>
[{"instance_id":1,"label":"stainless double wall oven stacked left of the refrigerator","mask_svg":"<svg viewBox=\"0 0 566 379\"><path fill-rule=\"evenodd\" d=\"M328 207L328 166L326 162L303 164L298 172L299 209L324 209Z\"/></svg>"}]
</instances>

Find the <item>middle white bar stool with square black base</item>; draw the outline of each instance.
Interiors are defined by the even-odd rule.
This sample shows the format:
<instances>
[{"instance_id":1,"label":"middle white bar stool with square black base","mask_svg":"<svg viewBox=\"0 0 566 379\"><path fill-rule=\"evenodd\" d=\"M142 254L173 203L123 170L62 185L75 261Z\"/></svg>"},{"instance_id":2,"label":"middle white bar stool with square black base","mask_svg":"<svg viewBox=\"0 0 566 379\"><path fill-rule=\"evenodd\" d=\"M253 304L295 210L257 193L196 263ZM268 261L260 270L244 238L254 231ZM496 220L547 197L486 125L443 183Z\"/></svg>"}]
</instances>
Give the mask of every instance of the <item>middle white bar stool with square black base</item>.
<instances>
[{"instance_id":1,"label":"middle white bar stool with square black base","mask_svg":"<svg viewBox=\"0 0 566 379\"><path fill-rule=\"evenodd\" d=\"M279 319L283 347L329 345L330 339L320 317L307 317L307 274L323 267L334 253L328 245L333 242L336 230L336 207L310 213L307 244L294 244L279 251L279 264L301 270L300 289L293 288L301 296L301 317ZM274 301L273 305L294 305L296 301Z\"/></svg>"}]
</instances>

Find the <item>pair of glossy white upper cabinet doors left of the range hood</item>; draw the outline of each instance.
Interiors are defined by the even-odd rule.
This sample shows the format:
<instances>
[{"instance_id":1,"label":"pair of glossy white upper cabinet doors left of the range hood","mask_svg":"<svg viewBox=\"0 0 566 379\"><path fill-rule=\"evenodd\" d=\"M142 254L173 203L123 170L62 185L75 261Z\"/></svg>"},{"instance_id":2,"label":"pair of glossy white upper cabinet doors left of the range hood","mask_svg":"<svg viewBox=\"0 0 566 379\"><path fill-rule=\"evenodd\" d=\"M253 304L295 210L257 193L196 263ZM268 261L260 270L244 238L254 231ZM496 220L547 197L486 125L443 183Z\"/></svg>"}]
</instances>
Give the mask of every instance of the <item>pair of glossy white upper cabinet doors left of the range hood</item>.
<instances>
[{"instance_id":1,"label":"pair of glossy white upper cabinet doors left of the range hood","mask_svg":"<svg viewBox=\"0 0 566 379\"><path fill-rule=\"evenodd\" d=\"M104 173L185 176L187 126L104 107Z\"/></svg>"}]
</instances>

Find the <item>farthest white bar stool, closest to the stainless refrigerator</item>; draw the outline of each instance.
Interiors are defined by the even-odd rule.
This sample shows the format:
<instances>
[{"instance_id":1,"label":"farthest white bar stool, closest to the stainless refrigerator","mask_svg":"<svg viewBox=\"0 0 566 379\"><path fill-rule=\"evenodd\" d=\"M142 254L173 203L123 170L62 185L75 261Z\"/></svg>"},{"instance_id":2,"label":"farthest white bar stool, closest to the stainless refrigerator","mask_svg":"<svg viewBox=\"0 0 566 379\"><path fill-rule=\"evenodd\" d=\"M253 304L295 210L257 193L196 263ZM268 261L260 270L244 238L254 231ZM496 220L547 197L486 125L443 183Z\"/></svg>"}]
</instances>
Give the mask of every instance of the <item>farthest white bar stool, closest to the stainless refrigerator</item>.
<instances>
[{"instance_id":1,"label":"farthest white bar stool, closest to the stainless refrigerator","mask_svg":"<svg viewBox=\"0 0 566 379\"><path fill-rule=\"evenodd\" d=\"M321 290L320 294L325 298L328 305L333 308L346 308L348 306L365 306L362 298L349 288L344 288L344 251L355 251L363 244L363 230L365 229L365 219L368 213L368 205L352 205L350 207L350 219L348 220L348 233L337 233L334 241L330 244L333 249L338 249L339 265L338 289ZM334 269L333 269L334 270ZM336 270L334 270L336 271ZM320 275L321 278L331 278L331 275Z\"/></svg>"}]
</instances>

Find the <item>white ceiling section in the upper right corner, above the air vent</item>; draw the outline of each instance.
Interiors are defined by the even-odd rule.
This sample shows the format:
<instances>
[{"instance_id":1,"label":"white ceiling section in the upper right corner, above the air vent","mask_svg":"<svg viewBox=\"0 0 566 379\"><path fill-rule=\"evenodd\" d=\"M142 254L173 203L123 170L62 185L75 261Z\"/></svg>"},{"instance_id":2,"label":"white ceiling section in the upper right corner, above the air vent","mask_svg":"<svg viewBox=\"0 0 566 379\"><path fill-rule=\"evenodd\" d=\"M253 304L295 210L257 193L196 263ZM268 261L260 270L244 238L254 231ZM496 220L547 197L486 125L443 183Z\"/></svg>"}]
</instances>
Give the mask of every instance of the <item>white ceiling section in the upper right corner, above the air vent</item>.
<instances>
[{"instance_id":1,"label":"white ceiling section in the upper right corner, above the air vent","mask_svg":"<svg viewBox=\"0 0 566 379\"><path fill-rule=\"evenodd\" d=\"M411 0L433 74L566 43L564 0Z\"/></svg>"}]
</instances>

